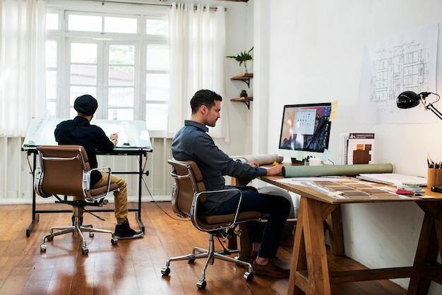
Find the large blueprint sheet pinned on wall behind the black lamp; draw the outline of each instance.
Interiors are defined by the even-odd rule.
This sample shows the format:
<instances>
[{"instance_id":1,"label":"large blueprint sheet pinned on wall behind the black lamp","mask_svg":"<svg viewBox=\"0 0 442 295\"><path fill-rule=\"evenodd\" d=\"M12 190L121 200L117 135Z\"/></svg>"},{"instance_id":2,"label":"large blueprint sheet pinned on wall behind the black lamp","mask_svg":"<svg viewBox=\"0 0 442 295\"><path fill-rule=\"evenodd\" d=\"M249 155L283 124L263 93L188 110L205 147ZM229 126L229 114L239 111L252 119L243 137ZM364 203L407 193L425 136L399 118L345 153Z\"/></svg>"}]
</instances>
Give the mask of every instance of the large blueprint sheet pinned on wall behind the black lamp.
<instances>
[{"instance_id":1,"label":"large blueprint sheet pinned on wall behind the black lamp","mask_svg":"<svg viewBox=\"0 0 442 295\"><path fill-rule=\"evenodd\" d=\"M434 122L424 107L398 109L400 92L436 92L438 24L366 44L357 118L364 123ZM427 102L436 97L427 97Z\"/></svg>"}]
</instances>

